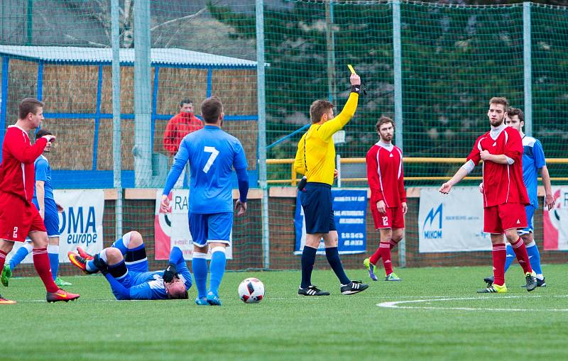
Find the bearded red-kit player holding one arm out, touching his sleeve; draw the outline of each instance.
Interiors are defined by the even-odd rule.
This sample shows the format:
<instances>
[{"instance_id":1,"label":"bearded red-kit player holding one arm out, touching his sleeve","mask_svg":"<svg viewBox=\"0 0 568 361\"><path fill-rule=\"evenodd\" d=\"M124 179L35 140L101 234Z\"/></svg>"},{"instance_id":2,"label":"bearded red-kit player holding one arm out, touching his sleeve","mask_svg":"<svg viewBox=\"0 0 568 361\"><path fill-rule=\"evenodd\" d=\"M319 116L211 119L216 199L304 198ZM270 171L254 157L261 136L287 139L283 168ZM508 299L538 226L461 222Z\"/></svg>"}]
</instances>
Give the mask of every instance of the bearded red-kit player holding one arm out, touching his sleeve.
<instances>
[{"instance_id":1,"label":"bearded red-kit player holding one arm out, touching his sleeve","mask_svg":"<svg viewBox=\"0 0 568 361\"><path fill-rule=\"evenodd\" d=\"M527 226L524 209L525 205L529 204L529 199L523 183L523 141L515 128L510 128L504 123L508 108L507 99L491 98L487 112L491 130L477 138L467 162L439 189L442 194L448 194L454 184L464 179L481 160L484 161L484 232L491 233L494 281L493 284L488 282L486 288L479 289L479 293L507 291L505 285L507 253L503 233L513 246L517 260L523 267L527 291L537 287L525 243L517 233L517 229Z\"/></svg>"}]
</instances>

